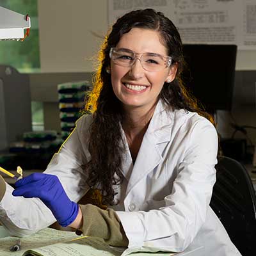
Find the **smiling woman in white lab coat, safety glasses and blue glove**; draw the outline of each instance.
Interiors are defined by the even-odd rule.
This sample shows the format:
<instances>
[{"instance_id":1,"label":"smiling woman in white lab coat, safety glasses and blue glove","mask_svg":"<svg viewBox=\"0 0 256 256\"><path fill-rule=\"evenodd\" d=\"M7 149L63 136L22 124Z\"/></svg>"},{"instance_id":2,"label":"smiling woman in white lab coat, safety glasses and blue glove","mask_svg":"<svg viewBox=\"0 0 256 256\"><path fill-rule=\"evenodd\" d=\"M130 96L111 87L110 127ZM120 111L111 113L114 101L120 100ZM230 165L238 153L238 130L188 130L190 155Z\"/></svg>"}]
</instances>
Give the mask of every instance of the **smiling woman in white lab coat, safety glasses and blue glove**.
<instances>
[{"instance_id":1,"label":"smiling woman in white lab coat, safety glasses and blue glove","mask_svg":"<svg viewBox=\"0 0 256 256\"><path fill-rule=\"evenodd\" d=\"M77 121L44 173L7 186L3 225L22 236L57 220L131 251L240 255L209 207L218 139L182 86L173 23L151 9L127 13L99 60L93 115ZM103 209L76 203L89 188Z\"/></svg>"}]
</instances>

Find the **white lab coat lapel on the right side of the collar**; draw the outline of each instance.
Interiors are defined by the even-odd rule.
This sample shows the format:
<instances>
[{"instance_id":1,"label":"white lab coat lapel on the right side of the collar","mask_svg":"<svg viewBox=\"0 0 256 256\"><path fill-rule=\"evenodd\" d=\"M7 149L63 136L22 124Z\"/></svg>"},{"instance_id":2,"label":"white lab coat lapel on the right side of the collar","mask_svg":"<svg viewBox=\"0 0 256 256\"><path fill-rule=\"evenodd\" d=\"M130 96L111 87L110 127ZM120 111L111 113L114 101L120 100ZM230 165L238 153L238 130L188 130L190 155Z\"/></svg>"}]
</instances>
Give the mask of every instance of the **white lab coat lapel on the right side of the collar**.
<instances>
[{"instance_id":1,"label":"white lab coat lapel on the right side of the collar","mask_svg":"<svg viewBox=\"0 0 256 256\"><path fill-rule=\"evenodd\" d=\"M145 175L152 172L163 161L159 145L170 141L171 126L172 118L170 118L169 113L164 111L164 105L160 100L145 132L138 156L131 170L126 196Z\"/></svg>"}]
</instances>

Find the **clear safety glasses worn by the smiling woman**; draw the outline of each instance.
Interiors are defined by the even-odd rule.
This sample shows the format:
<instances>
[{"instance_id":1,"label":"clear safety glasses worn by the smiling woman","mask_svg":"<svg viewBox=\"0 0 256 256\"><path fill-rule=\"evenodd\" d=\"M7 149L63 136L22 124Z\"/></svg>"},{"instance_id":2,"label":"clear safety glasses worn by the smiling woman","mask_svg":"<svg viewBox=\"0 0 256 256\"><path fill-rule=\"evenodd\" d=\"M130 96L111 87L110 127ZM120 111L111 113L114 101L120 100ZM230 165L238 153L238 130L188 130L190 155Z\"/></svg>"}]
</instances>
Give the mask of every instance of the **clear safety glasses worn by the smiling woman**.
<instances>
[{"instance_id":1,"label":"clear safety glasses worn by the smiling woman","mask_svg":"<svg viewBox=\"0 0 256 256\"><path fill-rule=\"evenodd\" d=\"M122 67L131 67L138 59L142 67L147 71L163 70L172 64L172 57L170 56L163 56L154 52L136 53L129 49L115 47L110 49L109 57L113 63Z\"/></svg>"}]
</instances>

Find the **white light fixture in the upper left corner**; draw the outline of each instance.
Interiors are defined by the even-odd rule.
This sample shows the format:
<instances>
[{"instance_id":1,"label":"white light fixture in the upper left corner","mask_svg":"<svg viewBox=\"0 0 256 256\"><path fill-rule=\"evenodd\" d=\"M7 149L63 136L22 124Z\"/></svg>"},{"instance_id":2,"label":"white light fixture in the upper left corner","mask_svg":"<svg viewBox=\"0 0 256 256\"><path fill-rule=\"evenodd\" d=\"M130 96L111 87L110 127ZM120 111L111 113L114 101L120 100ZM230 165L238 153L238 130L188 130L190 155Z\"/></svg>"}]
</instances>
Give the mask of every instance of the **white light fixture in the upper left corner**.
<instances>
[{"instance_id":1,"label":"white light fixture in the upper left corner","mask_svg":"<svg viewBox=\"0 0 256 256\"><path fill-rule=\"evenodd\" d=\"M29 29L30 26L28 15L0 6L0 40L23 40L27 35L24 35L24 29Z\"/></svg>"}]
</instances>

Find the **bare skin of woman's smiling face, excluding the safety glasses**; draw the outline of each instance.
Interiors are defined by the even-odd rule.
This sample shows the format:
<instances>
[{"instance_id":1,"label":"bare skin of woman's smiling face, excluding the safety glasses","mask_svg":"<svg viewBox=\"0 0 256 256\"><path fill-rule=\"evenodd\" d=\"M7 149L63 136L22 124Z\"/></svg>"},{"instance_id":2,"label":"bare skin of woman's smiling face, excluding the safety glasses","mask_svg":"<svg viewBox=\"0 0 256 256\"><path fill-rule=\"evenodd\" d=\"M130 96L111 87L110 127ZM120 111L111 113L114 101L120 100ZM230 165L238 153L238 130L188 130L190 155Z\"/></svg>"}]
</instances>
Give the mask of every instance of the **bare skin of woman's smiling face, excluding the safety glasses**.
<instances>
[{"instance_id":1,"label":"bare skin of woman's smiling face, excluding the safety glasses","mask_svg":"<svg viewBox=\"0 0 256 256\"><path fill-rule=\"evenodd\" d=\"M160 42L159 33L151 29L132 28L120 38L116 48L140 54L154 52L168 55L166 47ZM173 81L176 71L176 65L159 71L147 71L138 59L131 67L116 65L111 60L113 91L125 109L140 108L146 112L155 106L164 81Z\"/></svg>"}]
</instances>

